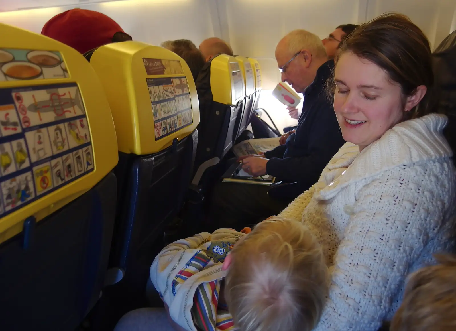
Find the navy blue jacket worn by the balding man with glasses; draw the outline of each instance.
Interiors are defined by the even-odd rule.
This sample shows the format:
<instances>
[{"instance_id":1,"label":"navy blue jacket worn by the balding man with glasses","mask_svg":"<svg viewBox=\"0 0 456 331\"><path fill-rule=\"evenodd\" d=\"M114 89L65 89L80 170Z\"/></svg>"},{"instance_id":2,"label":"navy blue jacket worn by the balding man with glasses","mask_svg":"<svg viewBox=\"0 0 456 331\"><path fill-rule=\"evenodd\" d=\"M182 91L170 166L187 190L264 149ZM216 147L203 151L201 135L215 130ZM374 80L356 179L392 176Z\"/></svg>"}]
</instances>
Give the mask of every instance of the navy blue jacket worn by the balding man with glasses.
<instances>
[{"instance_id":1,"label":"navy blue jacket worn by the balding man with glasses","mask_svg":"<svg viewBox=\"0 0 456 331\"><path fill-rule=\"evenodd\" d=\"M264 153L269 159L268 174L276 181L298 182L302 191L318 181L324 167L345 143L326 92L333 68L333 60L318 68L313 83L304 91L296 132L290 134L285 145Z\"/></svg>"}]
</instances>

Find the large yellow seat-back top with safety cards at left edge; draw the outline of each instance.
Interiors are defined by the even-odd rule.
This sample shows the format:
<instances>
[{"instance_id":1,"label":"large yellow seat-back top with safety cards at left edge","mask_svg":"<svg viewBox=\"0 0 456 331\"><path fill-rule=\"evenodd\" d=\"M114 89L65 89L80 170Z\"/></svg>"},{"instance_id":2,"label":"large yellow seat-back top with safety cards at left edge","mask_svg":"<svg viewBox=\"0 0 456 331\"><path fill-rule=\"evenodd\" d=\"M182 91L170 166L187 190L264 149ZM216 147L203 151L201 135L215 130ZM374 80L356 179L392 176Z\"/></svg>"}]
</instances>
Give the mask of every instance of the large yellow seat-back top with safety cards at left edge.
<instances>
[{"instance_id":1,"label":"large yellow seat-back top with safety cards at left edge","mask_svg":"<svg viewBox=\"0 0 456 331\"><path fill-rule=\"evenodd\" d=\"M81 54L1 23L0 35L1 243L95 186L118 152L108 100Z\"/></svg>"}]
</instances>

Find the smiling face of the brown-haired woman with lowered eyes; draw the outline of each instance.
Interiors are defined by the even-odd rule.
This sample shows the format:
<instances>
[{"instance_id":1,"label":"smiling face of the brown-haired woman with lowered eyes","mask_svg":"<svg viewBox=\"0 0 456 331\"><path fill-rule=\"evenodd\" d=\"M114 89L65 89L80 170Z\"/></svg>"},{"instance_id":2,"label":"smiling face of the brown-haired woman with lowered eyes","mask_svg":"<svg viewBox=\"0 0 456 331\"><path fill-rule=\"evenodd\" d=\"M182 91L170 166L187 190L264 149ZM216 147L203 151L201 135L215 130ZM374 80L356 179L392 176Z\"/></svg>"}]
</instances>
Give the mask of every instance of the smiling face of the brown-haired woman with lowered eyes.
<instances>
[{"instance_id":1,"label":"smiling face of the brown-haired woman with lowered eyes","mask_svg":"<svg viewBox=\"0 0 456 331\"><path fill-rule=\"evenodd\" d=\"M337 61L334 81L334 111L342 136L360 150L403 118L406 100L399 84L375 63L345 52Z\"/></svg>"}]
</instances>

